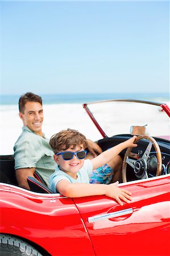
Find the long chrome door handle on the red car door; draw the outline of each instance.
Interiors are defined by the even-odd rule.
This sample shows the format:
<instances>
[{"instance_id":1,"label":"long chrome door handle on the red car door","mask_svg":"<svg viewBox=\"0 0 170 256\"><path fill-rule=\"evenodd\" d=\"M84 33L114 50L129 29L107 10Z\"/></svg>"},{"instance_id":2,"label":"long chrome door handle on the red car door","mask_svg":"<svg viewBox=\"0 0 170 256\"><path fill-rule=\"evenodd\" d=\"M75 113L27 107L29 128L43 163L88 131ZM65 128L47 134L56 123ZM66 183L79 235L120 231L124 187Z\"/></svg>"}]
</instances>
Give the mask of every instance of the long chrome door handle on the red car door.
<instances>
[{"instance_id":1,"label":"long chrome door handle on the red car door","mask_svg":"<svg viewBox=\"0 0 170 256\"><path fill-rule=\"evenodd\" d=\"M125 209L125 210L118 210L118 212L111 212L111 213L106 213L106 214L102 214L102 215L96 215L93 217L89 217L88 222L91 223L91 222L95 222L95 221L105 220L106 218L120 217L120 216L124 216L126 214L131 214L131 213L133 213L132 208Z\"/></svg>"}]
</instances>

